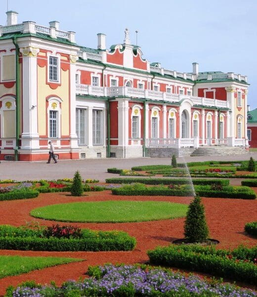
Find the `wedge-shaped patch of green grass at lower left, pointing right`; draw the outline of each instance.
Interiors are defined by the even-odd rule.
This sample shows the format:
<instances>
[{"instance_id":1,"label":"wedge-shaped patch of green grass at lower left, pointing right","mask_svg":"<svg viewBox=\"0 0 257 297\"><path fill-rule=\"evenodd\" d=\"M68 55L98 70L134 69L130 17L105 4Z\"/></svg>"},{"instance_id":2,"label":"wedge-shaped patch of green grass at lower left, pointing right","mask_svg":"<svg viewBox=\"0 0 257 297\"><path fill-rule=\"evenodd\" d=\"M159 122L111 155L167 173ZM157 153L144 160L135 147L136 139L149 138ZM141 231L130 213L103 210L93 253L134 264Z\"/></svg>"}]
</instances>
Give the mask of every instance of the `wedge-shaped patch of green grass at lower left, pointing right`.
<instances>
[{"instance_id":1,"label":"wedge-shaped patch of green grass at lower left, pointing right","mask_svg":"<svg viewBox=\"0 0 257 297\"><path fill-rule=\"evenodd\" d=\"M0 278L81 260L82 259L57 257L0 256Z\"/></svg>"}]
</instances>

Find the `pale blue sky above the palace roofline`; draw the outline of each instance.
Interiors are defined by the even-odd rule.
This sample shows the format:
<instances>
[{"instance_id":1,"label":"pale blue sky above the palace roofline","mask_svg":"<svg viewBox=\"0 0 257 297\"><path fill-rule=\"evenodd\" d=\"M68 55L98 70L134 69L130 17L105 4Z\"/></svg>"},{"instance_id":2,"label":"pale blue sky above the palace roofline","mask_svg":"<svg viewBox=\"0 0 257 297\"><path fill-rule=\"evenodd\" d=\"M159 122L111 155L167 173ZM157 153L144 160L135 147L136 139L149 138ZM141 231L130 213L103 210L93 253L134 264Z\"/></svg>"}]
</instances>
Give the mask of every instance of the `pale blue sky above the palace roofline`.
<instances>
[{"instance_id":1,"label":"pale blue sky above the palace roofline","mask_svg":"<svg viewBox=\"0 0 257 297\"><path fill-rule=\"evenodd\" d=\"M0 24L5 25L7 0L0 0ZM191 72L235 72L248 76L248 104L257 108L257 0L8 0L18 21L48 25L60 22L60 30L75 31L76 42L95 48L96 34L107 35L109 48L123 43L130 31L143 57L162 67Z\"/></svg>"}]
</instances>

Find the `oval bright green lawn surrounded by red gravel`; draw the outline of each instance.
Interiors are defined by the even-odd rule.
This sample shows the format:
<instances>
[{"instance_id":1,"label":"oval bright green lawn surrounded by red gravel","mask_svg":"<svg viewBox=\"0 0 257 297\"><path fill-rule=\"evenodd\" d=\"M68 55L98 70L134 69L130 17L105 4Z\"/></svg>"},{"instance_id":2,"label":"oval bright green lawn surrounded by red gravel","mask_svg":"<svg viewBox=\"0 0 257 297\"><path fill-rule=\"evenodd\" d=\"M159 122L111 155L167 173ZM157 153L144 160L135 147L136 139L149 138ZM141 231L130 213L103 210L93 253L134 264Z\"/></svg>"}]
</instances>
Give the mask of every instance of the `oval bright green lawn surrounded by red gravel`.
<instances>
[{"instance_id":1,"label":"oval bright green lawn surrounded by red gravel","mask_svg":"<svg viewBox=\"0 0 257 297\"><path fill-rule=\"evenodd\" d=\"M74 202L39 207L37 218L61 222L142 222L185 216L187 205L159 201Z\"/></svg>"}]
</instances>

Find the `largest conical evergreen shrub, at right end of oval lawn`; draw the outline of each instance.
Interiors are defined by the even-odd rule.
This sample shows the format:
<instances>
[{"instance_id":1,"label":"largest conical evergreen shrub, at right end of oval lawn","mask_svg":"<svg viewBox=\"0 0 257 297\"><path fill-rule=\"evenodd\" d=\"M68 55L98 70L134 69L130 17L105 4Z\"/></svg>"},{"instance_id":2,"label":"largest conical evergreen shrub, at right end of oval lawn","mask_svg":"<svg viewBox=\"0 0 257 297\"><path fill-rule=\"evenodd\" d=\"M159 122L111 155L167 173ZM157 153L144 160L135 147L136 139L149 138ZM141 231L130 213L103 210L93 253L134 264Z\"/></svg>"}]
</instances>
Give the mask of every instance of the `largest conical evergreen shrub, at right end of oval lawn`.
<instances>
[{"instance_id":1,"label":"largest conical evergreen shrub, at right end of oval lawn","mask_svg":"<svg viewBox=\"0 0 257 297\"><path fill-rule=\"evenodd\" d=\"M207 241L209 230L205 218L205 209L201 198L198 196L189 204L184 225L184 235L190 243Z\"/></svg>"}]
</instances>

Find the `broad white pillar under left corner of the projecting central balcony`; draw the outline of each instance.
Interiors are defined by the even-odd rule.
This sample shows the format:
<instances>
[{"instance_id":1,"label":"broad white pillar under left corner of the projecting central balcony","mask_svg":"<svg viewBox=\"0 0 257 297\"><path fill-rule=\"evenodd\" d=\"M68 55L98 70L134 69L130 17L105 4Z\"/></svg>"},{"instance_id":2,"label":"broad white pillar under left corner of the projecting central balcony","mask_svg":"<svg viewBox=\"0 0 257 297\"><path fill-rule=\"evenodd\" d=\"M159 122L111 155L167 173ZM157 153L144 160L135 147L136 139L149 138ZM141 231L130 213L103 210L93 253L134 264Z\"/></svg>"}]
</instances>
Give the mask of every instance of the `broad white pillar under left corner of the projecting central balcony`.
<instances>
[{"instance_id":1,"label":"broad white pillar under left corner of the projecting central balcony","mask_svg":"<svg viewBox=\"0 0 257 297\"><path fill-rule=\"evenodd\" d=\"M123 157L126 157L126 147L129 145L129 100L121 98L118 101L118 146L122 147Z\"/></svg>"}]
</instances>

